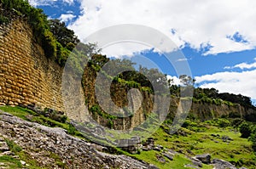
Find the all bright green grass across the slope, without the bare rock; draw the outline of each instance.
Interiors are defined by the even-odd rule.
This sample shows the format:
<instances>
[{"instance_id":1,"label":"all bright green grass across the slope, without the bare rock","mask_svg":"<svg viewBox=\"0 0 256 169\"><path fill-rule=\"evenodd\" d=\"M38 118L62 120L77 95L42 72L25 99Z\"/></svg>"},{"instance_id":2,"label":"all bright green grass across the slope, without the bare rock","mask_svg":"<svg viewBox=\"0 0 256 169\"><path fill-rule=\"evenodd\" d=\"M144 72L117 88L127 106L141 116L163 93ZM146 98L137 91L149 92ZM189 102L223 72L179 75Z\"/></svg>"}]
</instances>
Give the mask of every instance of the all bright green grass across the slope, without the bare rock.
<instances>
[{"instance_id":1,"label":"all bright green grass across the slope, without the bare rock","mask_svg":"<svg viewBox=\"0 0 256 169\"><path fill-rule=\"evenodd\" d=\"M73 126L70 126L68 122L61 123L44 117L44 115L38 115L32 110L28 110L20 107L9 107L3 106L0 107L0 110L9 112L12 115L18 116L26 121L34 121L45 126L49 127L62 127L67 129L70 134L79 135L79 137L84 138L83 135L77 131ZM68 120L67 120L68 121ZM219 127L219 121L187 121L186 128L182 127L180 132L181 134L172 134L170 135L168 127L162 125L159 129L156 130L153 134L154 144L160 144L166 149L173 149L182 154L174 155L173 161L168 160L166 157L165 163L162 163L157 160L157 155L161 155L160 152L149 150L149 151L140 151L139 154L131 155L128 152L125 152L119 148L113 148L114 154L117 155L129 155L132 158L135 158L140 161L146 161L150 164L154 164L159 168L188 168L185 165L191 164L191 161L188 160L186 156L195 156L200 154L209 153L212 155L212 159L218 158L224 161L230 161L232 164L237 167L246 166L248 169L253 169L256 166L256 155L253 154L251 149L251 143L247 141L247 138L241 138L241 134L236 132L236 129L233 127ZM230 124L230 123L228 123ZM111 132L111 130L110 130ZM133 134L138 134L140 132L135 131ZM114 133L112 133L114 135ZM220 137L214 137L212 134L219 135ZM120 136L121 138L130 138L131 134L124 134ZM233 139L230 143L223 142L221 139L222 136L228 136ZM32 160L31 156L23 151L18 145L15 145L13 142L7 140L10 149L15 152L15 155L20 156L20 160L26 161L28 168L39 168L36 160ZM65 164L62 163L60 158L57 155L49 154L50 157L55 159L55 162L60 167L65 167ZM14 166L13 168L19 168L19 161L15 161L10 157L4 157L7 160L0 159L1 161L6 161L9 163L9 166ZM63 166L64 165L64 166ZM202 169L210 169L212 166L203 165Z\"/></svg>"}]
</instances>

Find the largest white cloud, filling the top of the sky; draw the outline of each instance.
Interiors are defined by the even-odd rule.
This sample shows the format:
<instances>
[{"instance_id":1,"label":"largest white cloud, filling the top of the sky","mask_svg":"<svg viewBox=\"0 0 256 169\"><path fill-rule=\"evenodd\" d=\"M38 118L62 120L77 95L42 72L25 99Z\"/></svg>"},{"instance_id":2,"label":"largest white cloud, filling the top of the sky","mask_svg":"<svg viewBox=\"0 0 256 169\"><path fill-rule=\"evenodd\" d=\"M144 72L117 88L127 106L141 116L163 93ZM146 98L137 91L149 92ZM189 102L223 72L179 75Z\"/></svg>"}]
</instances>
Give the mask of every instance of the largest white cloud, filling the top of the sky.
<instances>
[{"instance_id":1,"label":"largest white cloud, filling the top of the sky","mask_svg":"<svg viewBox=\"0 0 256 169\"><path fill-rule=\"evenodd\" d=\"M81 0L81 8L83 14L69 26L81 39L111 25L138 24L165 33L178 47L187 43L200 50L207 44L212 48L205 55L256 46L256 1L252 0ZM236 33L247 43L227 37Z\"/></svg>"}]
</instances>

